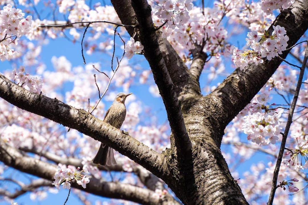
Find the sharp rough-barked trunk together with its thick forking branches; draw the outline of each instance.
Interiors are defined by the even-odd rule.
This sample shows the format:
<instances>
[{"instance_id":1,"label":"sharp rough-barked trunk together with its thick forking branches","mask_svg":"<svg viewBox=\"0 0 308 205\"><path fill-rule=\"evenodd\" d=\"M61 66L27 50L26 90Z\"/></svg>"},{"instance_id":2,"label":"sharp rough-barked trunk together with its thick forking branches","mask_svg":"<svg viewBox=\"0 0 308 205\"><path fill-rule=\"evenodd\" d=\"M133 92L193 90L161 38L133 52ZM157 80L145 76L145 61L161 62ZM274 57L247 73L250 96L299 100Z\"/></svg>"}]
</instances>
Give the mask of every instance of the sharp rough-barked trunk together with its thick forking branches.
<instances>
[{"instance_id":1,"label":"sharp rough-barked trunk together with its thick forking branches","mask_svg":"<svg viewBox=\"0 0 308 205\"><path fill-rule=\"evenodd\" d=\"M86 111L26 91L2 75L0 97L19 108L77 129L128 156L163 179L184 204L248 204L221 154L221 140L226 125L272 76L281 60L274 58L257 66L249 65L243 71L236 69L212 93L201 96L198 77L205 58L195 55L196 66L188 70L168 41L159 31L154 31L151 8L146 1L111 2L123 24L139 25L136 39L144 45L144 55L172 128L170 149L159 154ZM307 30L307 8L307 0L296 1L273 23L285 27L289 46ZM128 32L133 34L133 30ZM281 57L285 58L288 52Z\"/></svg>"}]
</instances>

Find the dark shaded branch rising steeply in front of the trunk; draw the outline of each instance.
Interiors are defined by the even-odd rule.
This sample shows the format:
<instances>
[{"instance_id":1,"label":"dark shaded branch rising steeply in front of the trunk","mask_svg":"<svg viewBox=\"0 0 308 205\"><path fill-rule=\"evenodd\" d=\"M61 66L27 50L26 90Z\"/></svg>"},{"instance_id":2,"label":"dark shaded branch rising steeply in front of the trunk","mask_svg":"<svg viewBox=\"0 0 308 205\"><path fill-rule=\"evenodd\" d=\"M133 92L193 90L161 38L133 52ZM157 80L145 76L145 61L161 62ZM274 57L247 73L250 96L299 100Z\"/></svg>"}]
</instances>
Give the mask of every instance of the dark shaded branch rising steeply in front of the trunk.
<instances>
[{"instance_id":1,"label":"dark shaded branch rising steeply in front of the trunk","mask_svg":"<svg viewBox=\"0 0 308 205\"><path fill-rule=\"evenodd\" d=\"M132 7L139 23L139 37L144 45L144 56L150 64L155 83L163 99L176 148L180 153L179 157L185 159L191 155L192 144L186 131L175 86L160 52L158 37L152 21L151 6L145 0L133 0Z\"/></svg>"}]
</instances>

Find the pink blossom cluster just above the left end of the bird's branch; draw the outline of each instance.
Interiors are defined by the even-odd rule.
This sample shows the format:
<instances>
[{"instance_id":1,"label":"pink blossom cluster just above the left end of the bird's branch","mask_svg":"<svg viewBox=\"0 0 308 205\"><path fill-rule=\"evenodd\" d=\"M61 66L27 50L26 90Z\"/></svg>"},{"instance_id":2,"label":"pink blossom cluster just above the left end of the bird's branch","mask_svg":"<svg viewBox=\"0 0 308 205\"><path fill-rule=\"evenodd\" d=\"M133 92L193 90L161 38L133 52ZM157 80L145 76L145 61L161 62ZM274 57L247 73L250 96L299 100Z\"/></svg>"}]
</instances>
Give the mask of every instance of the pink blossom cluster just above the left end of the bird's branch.
<instances>
[{"instance_id":1,"label":"pink blossom cluster just above the left end of the bird's branch","mask_svg":"<svg viewBox=\"0 0 308 205\"><path fill-rule=\"evenodd\" d=\"M18 80L17 85L27 86L31 92L41 92L43 81L39 77L32 77L29 73L26 73L23 66L20 66L17 71L14 69L10 77L12 81Z\"/></svg>"}]
</instances>

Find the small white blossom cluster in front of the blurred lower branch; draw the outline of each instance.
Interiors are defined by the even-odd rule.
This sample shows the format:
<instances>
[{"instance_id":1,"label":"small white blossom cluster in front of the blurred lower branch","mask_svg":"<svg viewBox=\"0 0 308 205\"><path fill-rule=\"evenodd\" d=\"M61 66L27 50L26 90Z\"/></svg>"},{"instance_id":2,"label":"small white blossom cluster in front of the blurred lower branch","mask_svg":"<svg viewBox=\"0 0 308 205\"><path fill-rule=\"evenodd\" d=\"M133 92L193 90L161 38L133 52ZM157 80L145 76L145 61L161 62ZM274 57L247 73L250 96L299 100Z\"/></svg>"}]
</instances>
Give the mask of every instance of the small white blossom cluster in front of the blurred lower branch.
<instances>
[{"instance_id":1,"label":"small white blossom cluster in front of the blurred lower branch","mask_svg":"<svg viewBox=\"0 0 308 205\"><path fill-rule=\"evenodd\" d=\"M72 180L75 179L76 183L85 189L86 184L90 182L90 179L89 177L86 177L87 175L81 174L81 172L89 173L87 165L83 165L82 170L79 170L80 167L76 169L74 166L70 165L68 168L65 168L65 166L58 166L54 176L55 181L52 183L52 185L55 185L55 187L59 189L61 184L64 189L70 189Z\"/></svg>"}]
</instances>

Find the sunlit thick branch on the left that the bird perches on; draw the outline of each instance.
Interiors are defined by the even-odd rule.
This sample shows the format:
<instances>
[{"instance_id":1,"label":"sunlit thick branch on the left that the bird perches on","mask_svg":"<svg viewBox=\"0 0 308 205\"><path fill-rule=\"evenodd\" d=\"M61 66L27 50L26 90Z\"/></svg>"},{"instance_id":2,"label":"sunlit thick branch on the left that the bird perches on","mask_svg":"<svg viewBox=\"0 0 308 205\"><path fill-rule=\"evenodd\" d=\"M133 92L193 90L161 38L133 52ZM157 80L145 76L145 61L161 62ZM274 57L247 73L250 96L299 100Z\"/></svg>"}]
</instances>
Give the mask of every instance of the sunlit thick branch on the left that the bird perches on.
<instances>
[{"instance_id":1,"label":"sunlit thick branch on the left that the bird perches on","mask_svg":"<svg viewBox=\"0 0 308 205\"><path fill-rule=\"evenodd\" d=\"M2 74L0 74L0 97L21 109L76 129L107 144L153 174L161 175L163 174L161 172L167 172L167 167L163 167L163 156L140 143L127 132L112 127L83 109L76 109L57 99L32 93L11 82Z\"/></svg>"}]
</instances>

